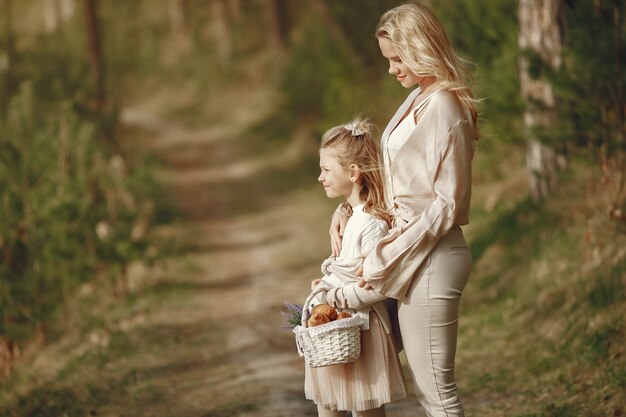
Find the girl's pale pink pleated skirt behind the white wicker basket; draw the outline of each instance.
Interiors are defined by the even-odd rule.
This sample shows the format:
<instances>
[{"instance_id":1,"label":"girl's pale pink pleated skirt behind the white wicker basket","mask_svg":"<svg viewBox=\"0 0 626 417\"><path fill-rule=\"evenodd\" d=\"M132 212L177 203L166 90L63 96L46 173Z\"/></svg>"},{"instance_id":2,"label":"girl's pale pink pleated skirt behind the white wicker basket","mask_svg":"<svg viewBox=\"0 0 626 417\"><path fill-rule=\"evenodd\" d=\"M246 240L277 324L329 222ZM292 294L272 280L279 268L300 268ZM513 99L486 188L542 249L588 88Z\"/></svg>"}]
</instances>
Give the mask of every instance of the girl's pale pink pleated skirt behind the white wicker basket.
<instances>
[{"instance_id":1,"label":"girl's pale pink pleated skirt behind the white wicker basket","mask_svg":"<svg viewBox=\"0 0 626 417\"><path fill-rule=\"evenodd\" d=\"M370 329L361 331L361 354L351 363L310 368L305 365L307 399L331 410L370 410L406 397L393 337L370 312Z\"/></svg>"}]
</instances>

